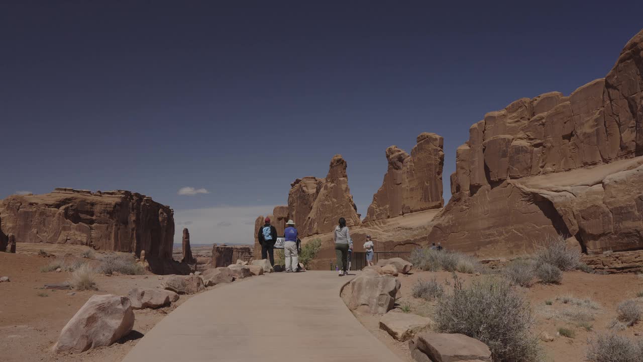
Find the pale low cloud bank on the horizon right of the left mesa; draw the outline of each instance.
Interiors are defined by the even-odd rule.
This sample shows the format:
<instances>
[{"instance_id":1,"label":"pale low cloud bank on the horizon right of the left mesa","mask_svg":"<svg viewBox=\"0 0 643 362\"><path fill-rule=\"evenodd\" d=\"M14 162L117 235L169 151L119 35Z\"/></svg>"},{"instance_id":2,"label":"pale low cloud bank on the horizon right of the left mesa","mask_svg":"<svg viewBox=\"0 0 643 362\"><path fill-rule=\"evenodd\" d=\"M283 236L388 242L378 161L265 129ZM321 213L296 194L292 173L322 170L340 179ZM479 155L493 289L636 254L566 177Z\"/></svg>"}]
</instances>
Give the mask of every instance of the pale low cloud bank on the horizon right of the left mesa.
<instances>
[{"instance_id":1,"label":"pale low cloud bank on the horizon right of the left mesa","mask_svg":"<svg viewBox=\"0 0 643 362\"><path fill-rule=\"evenodd\" d=\"M255 219L272 213L273 206L217 206L207 209L175 210L175 220L190 220L190 243L252 244L255 242ZM177 228L178 230L178 228ZM181 243L180 231L174 242Z\"/></svg>"}]
</instances>

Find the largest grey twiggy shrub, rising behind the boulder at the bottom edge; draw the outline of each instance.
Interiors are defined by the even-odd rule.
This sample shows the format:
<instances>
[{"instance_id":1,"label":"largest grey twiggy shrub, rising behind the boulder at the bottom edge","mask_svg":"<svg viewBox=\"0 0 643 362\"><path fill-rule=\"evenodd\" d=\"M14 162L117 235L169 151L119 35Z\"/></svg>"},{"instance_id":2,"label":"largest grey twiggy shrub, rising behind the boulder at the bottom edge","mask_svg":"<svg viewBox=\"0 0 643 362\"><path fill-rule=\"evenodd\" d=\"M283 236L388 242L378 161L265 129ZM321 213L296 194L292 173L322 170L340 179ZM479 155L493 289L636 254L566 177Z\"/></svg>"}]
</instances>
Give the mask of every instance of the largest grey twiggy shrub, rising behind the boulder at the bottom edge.
<instances>
[{"instance_id":1,"label":"largest grey twiggy shrub, rising behind the boulder at the bottom edge","mask_svg":"<svg viewBox=\"0 0 643 362\"><path fill-rule=\"evenodd\" d=\"M482 341L496 362L539 361L538 340L529 303L507 281L473 281L467 289L455 278L453 294L442 296L435 316L437 329Z\"/></svg>"}]
</instances>

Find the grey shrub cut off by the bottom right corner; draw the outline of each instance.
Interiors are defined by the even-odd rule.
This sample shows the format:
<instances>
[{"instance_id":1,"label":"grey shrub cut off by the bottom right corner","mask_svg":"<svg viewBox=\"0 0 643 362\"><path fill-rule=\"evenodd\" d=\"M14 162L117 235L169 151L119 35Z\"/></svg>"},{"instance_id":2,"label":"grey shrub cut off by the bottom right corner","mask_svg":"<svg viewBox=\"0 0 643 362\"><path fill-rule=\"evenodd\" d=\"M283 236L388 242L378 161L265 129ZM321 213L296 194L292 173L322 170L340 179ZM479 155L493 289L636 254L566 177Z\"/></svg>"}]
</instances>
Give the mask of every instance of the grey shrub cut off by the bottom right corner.
<instances>
[{"instance_id":1,"label":"grey shrub cut off by the bottom right corner","mask_svg":"<svg viewBox=\"0 0 643 362\"><path fill-rule=\"evenodd\" d=\"M588 341L590 362L643 362L643 345L617 334L599 334Z\"/></svg>"}]
</instances>

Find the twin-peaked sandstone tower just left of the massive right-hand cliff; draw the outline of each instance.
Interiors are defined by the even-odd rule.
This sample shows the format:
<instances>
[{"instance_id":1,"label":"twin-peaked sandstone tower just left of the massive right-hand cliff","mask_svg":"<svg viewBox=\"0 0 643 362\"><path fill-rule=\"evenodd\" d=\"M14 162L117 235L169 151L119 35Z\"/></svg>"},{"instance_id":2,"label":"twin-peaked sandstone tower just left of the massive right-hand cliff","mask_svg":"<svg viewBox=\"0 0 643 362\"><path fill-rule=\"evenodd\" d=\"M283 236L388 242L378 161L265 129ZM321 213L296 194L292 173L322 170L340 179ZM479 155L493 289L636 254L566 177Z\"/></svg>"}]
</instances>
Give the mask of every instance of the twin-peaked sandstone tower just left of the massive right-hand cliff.
<instances>
[{"instance_id":1,"label":"twin-peaked sandstone tower just left of the massive right-hand cliff","mask_svg":"<svg viewBox=\"0 0 643 362\"><path fill-rule=\"evenodd\" d=\"M387 148L388 170L364 221L442 207L443 148L444 138L435 133L419 135L411 155L397 146Z\"/></svg>"}]
</instances>

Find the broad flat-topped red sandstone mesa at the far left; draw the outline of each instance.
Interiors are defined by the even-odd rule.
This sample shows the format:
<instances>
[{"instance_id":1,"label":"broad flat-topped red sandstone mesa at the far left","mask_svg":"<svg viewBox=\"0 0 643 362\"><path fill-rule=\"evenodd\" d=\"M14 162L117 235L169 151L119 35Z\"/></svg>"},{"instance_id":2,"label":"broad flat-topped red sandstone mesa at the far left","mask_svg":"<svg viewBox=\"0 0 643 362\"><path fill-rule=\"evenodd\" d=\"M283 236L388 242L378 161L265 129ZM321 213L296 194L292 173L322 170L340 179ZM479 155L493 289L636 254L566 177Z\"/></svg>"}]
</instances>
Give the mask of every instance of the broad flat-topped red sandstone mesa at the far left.
<instances>
[{"instance_id":1,"label":"broad flat-topped red sandstone mesa at the far left","mask_svg":"<svg viewBox=\"0 0 643 362\"><path fill-rule=\"evenodd\" d=\"M137 256L145 251L150 258L170 260L174 211L129 191L57 188L2 200L2 234L15 234L17 242L80 244Z\"/></svg>"}]
</instances>

